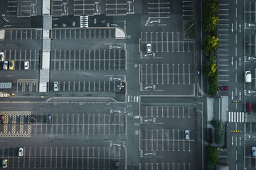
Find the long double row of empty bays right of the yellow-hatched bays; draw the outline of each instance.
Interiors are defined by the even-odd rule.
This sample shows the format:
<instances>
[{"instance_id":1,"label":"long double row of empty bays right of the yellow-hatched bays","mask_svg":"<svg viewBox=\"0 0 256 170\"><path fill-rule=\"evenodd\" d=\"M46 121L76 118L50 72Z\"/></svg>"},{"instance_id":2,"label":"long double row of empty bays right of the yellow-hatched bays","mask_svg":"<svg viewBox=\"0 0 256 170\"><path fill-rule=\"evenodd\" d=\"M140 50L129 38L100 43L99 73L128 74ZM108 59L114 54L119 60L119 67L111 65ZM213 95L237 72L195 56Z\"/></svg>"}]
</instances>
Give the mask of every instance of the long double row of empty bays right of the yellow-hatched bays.
<instances>
[{"instance_id":1,"label":"long double row of empty bays right of the yellow-hatched bays","mask_svg":"<svg viewBox=\"0 0 256 170\"><path fill-rule=\"evenodd\" d=\"M119 111L119 110L118 110ZM124 135L124 114L115 113L54 114L46 124L46 115L37 115L31 135Z\"/></svg>"}]
</instances>

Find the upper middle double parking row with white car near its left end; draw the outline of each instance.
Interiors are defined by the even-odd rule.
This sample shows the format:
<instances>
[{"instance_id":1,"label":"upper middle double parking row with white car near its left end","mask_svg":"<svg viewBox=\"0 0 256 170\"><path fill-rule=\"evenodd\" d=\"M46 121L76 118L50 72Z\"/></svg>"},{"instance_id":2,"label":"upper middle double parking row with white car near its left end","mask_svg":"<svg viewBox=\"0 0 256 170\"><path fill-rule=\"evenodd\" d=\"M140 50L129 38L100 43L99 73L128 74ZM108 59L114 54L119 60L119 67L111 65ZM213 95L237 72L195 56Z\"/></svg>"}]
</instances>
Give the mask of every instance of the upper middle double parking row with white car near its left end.
<instances>
[{"instance_id":1,"label":"upper middle double parking row with white car near its left end","mask_svg":"<svg viewBox=\"0 0 256 170\"><path fill-rule=\"evenodd\" d=\"M141 32L141 51L150 44L151 52L193 52L193 41L182 37L180 32Z\"/></svg>"}]
</instances>

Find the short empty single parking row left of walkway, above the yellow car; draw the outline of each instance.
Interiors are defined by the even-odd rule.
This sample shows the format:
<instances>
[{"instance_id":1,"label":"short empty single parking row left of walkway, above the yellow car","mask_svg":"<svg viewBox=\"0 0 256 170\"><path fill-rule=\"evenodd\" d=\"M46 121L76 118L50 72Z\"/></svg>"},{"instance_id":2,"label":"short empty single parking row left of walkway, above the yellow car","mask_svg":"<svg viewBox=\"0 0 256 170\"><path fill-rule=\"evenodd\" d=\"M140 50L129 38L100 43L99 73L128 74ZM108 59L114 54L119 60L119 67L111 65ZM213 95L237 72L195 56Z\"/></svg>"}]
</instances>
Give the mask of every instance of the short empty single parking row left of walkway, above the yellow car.
<instances>
[{"instance_id":1,"label":"short empty single parking row left of walkway, above the yellow car","mask_svg":"<svg viewBox=\"0 0 256 170\"><path fill-rule=\"evenodd\" d=\"M43 30L28 29L28 30L5 30L5 40L37 40L42 39Z\"/></svg>"}]
</instances>

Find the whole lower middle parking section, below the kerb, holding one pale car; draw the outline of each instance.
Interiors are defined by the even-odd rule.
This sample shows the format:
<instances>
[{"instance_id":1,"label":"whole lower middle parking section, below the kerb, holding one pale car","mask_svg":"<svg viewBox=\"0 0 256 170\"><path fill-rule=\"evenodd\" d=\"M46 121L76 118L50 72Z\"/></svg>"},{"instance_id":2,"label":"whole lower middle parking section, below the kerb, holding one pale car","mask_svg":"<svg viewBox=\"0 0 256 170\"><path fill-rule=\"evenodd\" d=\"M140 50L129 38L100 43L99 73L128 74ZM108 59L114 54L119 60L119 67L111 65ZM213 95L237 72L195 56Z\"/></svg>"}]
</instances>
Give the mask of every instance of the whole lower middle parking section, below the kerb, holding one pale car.
<instances>
[{"instance_id":1,"label":"whole lower middle parking section, below the kerb, holding one pale car","mask_svg":"<svg viewBox=\"0 0 256 170\"><path fill-rule=\"evenodd\" d=\"M194 169L193 106L142 106L140 114L142 169ZM184 139L185 130L189 140Z\"/></svg>"}]
</instances>

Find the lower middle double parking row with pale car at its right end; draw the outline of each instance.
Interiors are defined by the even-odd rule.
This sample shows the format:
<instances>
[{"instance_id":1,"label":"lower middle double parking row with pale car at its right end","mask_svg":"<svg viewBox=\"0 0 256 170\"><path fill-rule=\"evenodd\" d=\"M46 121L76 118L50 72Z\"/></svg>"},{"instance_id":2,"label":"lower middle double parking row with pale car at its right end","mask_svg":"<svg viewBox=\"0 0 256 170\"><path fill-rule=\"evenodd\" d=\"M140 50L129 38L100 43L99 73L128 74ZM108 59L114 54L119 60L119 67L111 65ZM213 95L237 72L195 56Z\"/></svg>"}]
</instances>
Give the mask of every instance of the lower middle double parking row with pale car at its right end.
<instances>
[{"instance_id":1,"label":"lower middle double parking row with pale car at its right end","mask_svg":"<svg viewBox=\"0 0 256 170\"><path fill-rule=\"evenodd\" d=\"M193 137L185 140L184 132L185 130L141 130L141 150L144 152L191 152L191 143L194 142ZM192 134L192 132L190 133Z\"/></svg>"}]
</instances>

